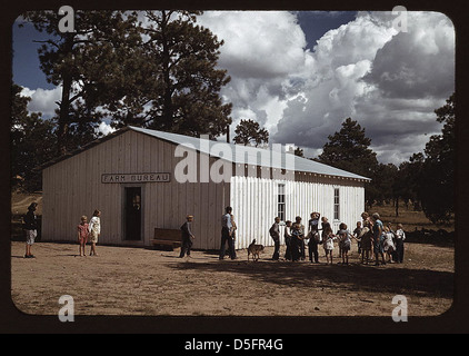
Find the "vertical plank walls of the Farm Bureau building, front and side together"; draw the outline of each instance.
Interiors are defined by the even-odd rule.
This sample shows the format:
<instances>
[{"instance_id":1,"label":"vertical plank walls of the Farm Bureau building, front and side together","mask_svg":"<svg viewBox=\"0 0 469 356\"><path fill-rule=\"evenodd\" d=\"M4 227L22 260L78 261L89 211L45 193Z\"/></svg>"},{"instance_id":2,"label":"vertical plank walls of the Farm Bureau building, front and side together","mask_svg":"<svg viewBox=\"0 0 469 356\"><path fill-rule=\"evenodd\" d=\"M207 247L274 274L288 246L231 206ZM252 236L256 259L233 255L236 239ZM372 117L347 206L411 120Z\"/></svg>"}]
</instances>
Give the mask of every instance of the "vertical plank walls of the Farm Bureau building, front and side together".
<instances>
[{"instance_id":1,"label":"vertical plank walls of the Farm Bureau building, front and side together","mask_svg":"<svg viewBox=\"0 0 469 356\"><path fill-rule=\"evenodd\" d=\"M268 231L278 214L279 184L286 185L286 218L292 221L298 215L307 225L310 212L316 210L329 218L336 231L342 221L353 230L365 208L363 182L313 174L296 172L295 179L258 178L259 169L247 166L243 175L237 175L233 167L230 182L180 184L173 177L174 167L181 160L174 157L174 150L173 144L129 130L46 168L43 239L74 241L81 215L91 218L98 208L102 211L101 244L136 245L123 240L123 187L132 185L101 184L102 174L171 174L170 182L140 185L143 205L140 245L149 245L154 227L179 229L191 214L194 248L218 249L221 216L224 207L231 205L239 227L236 247L246 248L253 238L271 246ZM340 190L337 221L333 220L335 188Z\"/></svg>"}]
</instances>

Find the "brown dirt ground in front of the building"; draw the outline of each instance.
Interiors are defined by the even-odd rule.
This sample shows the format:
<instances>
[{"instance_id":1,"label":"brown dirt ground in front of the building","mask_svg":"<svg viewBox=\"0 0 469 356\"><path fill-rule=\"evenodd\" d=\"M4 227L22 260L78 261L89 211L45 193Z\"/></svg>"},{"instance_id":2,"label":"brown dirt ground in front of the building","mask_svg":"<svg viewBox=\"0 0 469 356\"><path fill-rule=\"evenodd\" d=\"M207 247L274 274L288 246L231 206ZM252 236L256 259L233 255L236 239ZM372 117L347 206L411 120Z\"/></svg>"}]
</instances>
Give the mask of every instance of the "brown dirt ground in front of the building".
<instances>
[{"instance_id":1,"label":"brown dirt ground in front of the building","mask_svg":"<svg viewBox=\"0 0 469 356\"><path fill-rule=\"evenodd\" d=\"M11 297L19 310L57 315L70 295L74 314L144 316L389 316L403 295L408 315L436 316L453 295L453 248L407 244L403 264L361 265L352 245L348 266L269 260L219 260L214 251L98 246L99 256L78 256L73 244L11 243ZM283 253L285 246L281 248Z\"/></svg>"}]
</instances>

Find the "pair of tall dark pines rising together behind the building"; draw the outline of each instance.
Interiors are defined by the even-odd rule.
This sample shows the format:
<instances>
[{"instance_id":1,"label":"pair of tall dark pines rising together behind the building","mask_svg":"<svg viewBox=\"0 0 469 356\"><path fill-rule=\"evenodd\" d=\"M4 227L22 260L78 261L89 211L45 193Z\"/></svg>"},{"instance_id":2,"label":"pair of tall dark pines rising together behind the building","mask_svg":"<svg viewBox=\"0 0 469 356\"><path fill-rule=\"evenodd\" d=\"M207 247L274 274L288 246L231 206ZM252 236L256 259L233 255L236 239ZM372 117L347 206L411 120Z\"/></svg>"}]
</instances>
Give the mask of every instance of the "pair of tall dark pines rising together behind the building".
<instances>
[{"instance_id":1,"label":"pair of tall dark pines rising together behind the building","mask_svg":"<svg viewBox=\"0 0 469 356\"><path fill-rule=\"evenodd\" d=\"M39 59L48 81L62 87L59 155L96 138L104 116L114 127L224 132L231 105L219 91L230 78L216 68L223 41L196 23L199 13L76 11L76 31L66 33L52 11L26 14L50 34Z\"/></svg>"}]
</instances>

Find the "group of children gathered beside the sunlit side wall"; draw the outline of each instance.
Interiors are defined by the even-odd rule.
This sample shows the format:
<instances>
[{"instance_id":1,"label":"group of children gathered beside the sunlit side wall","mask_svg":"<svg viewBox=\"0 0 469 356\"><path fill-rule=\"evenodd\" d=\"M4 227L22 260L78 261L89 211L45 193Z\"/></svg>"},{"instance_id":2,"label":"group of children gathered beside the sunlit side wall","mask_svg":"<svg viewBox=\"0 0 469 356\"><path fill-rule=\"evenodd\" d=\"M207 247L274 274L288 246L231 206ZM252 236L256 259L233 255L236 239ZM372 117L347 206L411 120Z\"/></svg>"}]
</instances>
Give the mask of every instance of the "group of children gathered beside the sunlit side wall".
<instances>
[{"instance_id":1,"label":"group of children gathered beside the sunlit side wall","mask_svg":"<svg viewBox=\"0 0 469 356\"><path fill-rule=\"evenodd\" d=\"M402 263L403 241L406 239L402 225L398 224L397 230L393 231L390 222L383 227L377 212L371 218L368 212L363 212L361 217L363 222L358 221L353 233L350 233L347 225L341 222L336 234L333 234L332 227L326 217L321 218L321 227L319 227L319 212L311 212L307 229L301 224L301 217L299 216L296 217L295 222L286 221L285 240L287 250L285 258L292 261L305 260L305 240L308 240L309 260L311 263L319 263L318 246L322 245L327 264L332 264L333 249L337 243L339 258L342 258L343 265L348 265L351 239L356 239L362 264L368 265L369 261L375 259L375 264L378 265L379 256L381 256L382 264L387 261Z\"/></svg>"}]
</instances>

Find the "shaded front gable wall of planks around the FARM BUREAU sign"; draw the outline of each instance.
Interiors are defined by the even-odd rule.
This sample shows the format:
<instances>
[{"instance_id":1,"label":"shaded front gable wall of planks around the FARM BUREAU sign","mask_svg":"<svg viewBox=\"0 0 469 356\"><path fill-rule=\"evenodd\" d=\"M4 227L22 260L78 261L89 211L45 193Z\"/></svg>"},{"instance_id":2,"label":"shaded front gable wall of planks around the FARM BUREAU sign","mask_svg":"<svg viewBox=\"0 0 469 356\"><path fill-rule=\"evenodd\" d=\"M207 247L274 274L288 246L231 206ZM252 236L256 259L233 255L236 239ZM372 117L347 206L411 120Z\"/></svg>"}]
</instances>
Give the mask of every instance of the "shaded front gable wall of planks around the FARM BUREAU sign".
<instances>
[{"instance_id":1,"label":"shaded front gable wall of planks around the FARM BUREAU sign","mask_svg":"<svg viewBox=\"0 0 469 356\"><path fill-rule=\"evenodd\" d=\"M43 170L43 239L76 240L80 217L101 212L101 244L149 245L154 227L179 229L194 215L194 248L218 249L220 218L230 201L229 182L179 184L176 145L127 131ZM170 182L101 184L102 174L171 172ZM141 186L143 239L123 240L123 187Z\"/></svg>"}]
</instances>

